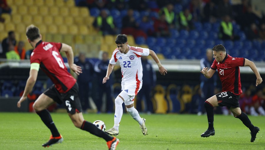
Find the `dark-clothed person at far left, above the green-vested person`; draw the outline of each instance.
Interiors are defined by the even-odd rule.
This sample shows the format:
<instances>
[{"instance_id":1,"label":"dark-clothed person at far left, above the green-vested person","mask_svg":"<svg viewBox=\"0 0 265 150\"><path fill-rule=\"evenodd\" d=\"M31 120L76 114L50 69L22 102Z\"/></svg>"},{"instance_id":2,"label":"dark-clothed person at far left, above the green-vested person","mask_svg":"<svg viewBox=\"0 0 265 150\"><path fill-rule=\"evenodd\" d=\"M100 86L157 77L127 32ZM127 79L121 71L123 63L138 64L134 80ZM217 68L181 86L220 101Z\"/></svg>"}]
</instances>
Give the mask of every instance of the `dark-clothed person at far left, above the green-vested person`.
<instances>
[{"instance_id":1,"label":"dark-clothed person at far left, above the green-vested person","mask_svg":"<svg viewBox=\"0 0 265 150\"><path fill-rule=\"evenodd\" d=\"M6 52L9 50L10 45L13 45L13 46L16 45L16 39L15 39L15 32L14 31L9 31L8 37L3 39L3 41L2 41L3 53L1 54L1 58L6 58Z\"/></svg>"}]
</instances>

